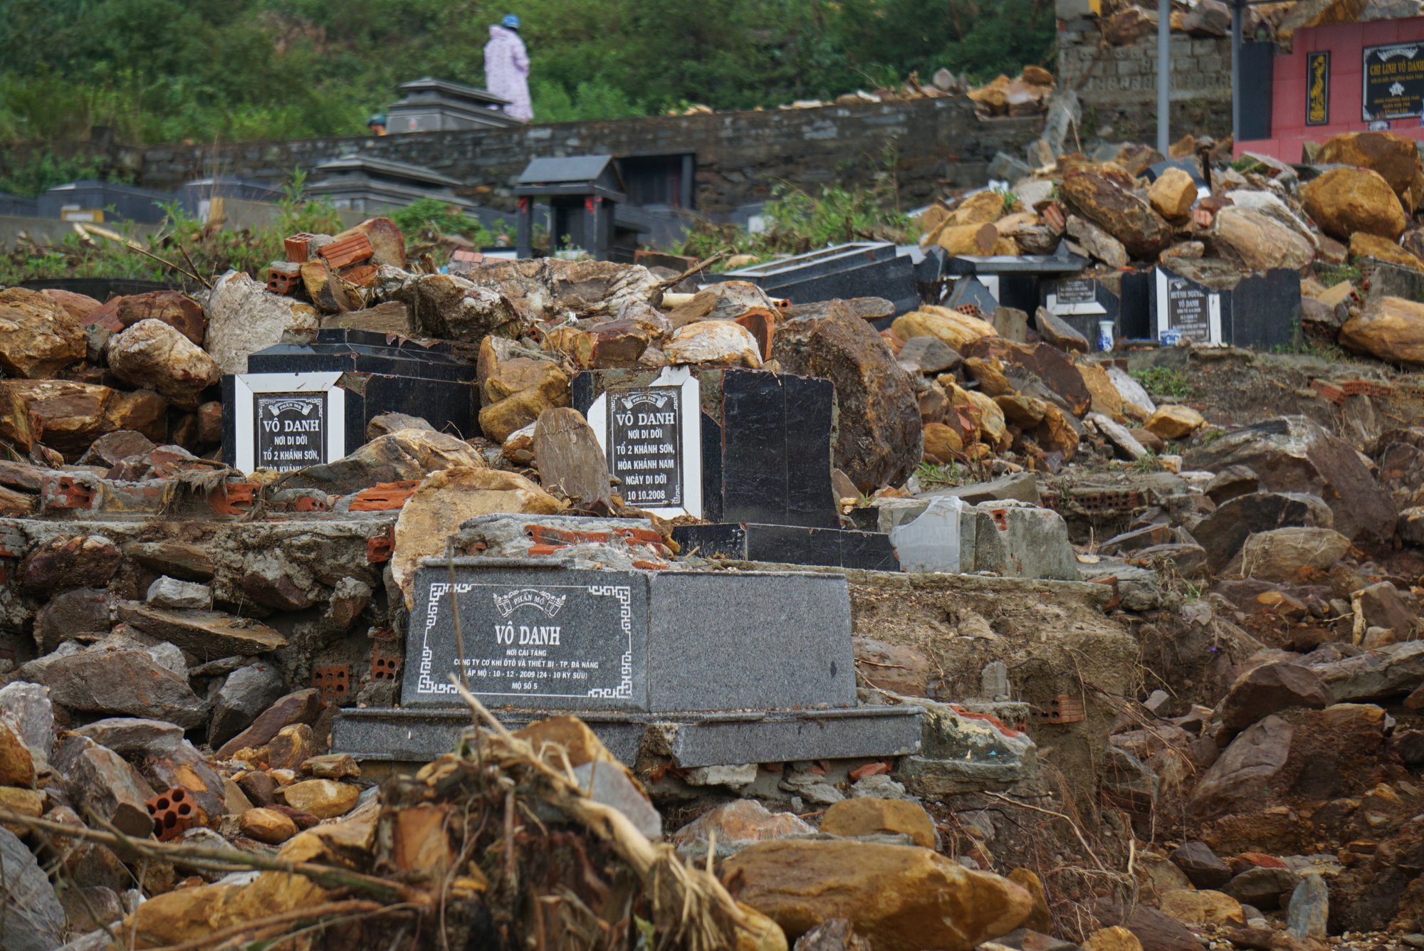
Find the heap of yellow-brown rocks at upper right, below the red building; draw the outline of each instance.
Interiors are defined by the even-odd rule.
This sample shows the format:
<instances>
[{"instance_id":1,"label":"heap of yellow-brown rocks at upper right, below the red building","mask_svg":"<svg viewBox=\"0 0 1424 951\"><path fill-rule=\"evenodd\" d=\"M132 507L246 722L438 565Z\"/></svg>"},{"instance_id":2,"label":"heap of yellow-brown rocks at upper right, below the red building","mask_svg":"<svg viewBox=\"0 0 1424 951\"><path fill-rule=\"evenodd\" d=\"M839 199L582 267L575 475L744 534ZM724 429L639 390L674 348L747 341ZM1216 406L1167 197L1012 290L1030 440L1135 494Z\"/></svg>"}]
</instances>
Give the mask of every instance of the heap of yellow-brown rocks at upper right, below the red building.
<instances>
[{"instance_id":1,"label":"heap of yellow-brown rocks at upper right, below the red building","mask_svg":"<svg viewBox=\"0 0 1424 951\"><path fill-rule=\"evenodd\" d=\"M1171 157L1142 145L1062 155L1005 191L936 202L920 215L921 243L951 256L1064 248L1091 261L1082 273L1109 288L1153 263L1222 290L1253 273L1294 272L1307 340L1424 363L1415 300L1424 164L1414 140L1337 135L1304 172L1249 152L1213 167L1218 154L1216 144L1188 137Z\"/></svg>"}]
</instances>

